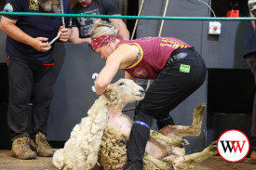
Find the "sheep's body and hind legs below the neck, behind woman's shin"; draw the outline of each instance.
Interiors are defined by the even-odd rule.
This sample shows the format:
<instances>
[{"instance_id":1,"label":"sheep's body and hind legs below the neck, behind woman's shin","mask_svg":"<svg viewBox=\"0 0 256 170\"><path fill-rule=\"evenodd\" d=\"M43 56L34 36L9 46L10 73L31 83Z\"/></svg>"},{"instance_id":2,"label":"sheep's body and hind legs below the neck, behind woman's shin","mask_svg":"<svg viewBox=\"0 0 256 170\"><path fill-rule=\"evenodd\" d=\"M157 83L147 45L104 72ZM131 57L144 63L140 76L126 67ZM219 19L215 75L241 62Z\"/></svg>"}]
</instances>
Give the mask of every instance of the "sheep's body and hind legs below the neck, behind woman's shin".
<instances>
[{"instance_id":1,"label":"sheep's body and hind legs below the neck, behind woman's shin","mask_svg":"<svg viewBox=\"0 0 256 170\"><path fill-rule=\"evenodd\" d=\"M206 104L202 103L194 110L193 123L190 126L168 125L159 130L151 130L150 138L144 154L144 170L186 170L193 169L192 163L200 163L209 156L218 153L216 144L212 142L205 150L185 155L184 146L187 140L185 136L199 136ZM101 140L99 163L101 168L110 170L127 162L126 143L132 121L127 115L118 111L118 114L110 115ZM96 168L95 168L96 170Z\"/></svg>"}]
</instances>

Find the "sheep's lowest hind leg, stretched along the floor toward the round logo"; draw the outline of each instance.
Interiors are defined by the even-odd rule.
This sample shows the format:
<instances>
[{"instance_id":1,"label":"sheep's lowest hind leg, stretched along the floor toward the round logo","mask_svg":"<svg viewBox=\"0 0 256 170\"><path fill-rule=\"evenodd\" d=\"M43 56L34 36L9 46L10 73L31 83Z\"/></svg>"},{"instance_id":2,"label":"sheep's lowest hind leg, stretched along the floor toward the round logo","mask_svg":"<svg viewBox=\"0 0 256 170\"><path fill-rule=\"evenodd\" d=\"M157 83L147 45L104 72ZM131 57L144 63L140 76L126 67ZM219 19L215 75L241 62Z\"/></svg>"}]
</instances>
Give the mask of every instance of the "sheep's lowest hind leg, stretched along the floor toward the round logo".
<instances>
[{"instance_id":1,"label":"sheep's lowest hind leg, stretched along the floor toward the round logo","mask_svg":"<svg viewBox=\"0 0 256 170\"><path fill-rule=\"evenodd\" d=\"M169 163L181 164L181 163L201 163L202 161L208 159L210 156L216 155L217 151L217 141L212 142L208 148L201 152L184 155L180 157L167 156L163 158L164 161L168 161Z\"/></svg>"}]
</instances>

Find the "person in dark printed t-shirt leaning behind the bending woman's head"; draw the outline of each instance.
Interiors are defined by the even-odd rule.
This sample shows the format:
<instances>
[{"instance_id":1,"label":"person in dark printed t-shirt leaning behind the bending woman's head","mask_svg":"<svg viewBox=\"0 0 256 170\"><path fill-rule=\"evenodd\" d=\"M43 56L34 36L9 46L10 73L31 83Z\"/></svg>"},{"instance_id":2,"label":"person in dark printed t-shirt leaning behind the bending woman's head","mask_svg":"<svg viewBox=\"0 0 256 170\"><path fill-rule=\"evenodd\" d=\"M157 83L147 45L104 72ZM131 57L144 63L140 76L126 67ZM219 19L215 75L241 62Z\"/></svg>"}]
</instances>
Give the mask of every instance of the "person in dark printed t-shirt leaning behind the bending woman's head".
<instances>
[{"instance_id":1,"label":"person in dark printed t-shirt leaning behind the bending woman's head","mask_svg":"<svg viewBox=\"0 0 256 170\"><path fill-rule=\"evenodd\" d=\"M73 7L73 13L120 16L120 11L113 0L77 0L77 3ZM70 42L90 44L90 33L95 20L97 19L83 17L74 18ZM129 39L127 25L122 19L109 19L109 21L119 25L119 35L121 39Z\"/></svg>"}]
</instances>

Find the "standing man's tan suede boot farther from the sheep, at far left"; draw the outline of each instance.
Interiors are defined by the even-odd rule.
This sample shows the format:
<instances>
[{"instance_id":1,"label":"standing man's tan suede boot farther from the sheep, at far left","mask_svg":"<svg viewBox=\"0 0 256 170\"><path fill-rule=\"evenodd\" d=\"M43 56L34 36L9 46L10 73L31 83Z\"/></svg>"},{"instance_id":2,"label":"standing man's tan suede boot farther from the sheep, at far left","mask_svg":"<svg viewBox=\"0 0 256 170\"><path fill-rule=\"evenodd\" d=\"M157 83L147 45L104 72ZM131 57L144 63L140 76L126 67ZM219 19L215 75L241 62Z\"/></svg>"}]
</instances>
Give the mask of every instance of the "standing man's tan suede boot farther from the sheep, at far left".
<instances>
[{"instance_id":1,"label":"standing man's tan suede boot farther from the sheep, at far left","mask_svg":"<svg viewBox=\"0 0 256 170\"><path fill-rule=\"evenodd\" d=\"M29 137L19 137L13 140L11 151L20 160L30 160L36 158L37 154L31 150Z\"/></svg>"}]
</instances>

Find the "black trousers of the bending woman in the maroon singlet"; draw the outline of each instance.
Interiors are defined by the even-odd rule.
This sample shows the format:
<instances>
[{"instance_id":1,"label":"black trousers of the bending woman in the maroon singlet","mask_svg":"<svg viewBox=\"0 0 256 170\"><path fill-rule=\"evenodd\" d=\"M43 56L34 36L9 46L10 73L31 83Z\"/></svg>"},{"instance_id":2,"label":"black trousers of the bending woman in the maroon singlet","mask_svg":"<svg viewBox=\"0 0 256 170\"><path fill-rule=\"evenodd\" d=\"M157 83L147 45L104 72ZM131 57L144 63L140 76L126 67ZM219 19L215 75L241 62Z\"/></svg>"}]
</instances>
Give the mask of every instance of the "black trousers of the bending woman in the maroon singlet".
<instances>
[{"instance_id":1,"label":"black trousers of the bending woman in the maroon singlet","mask_svg":"<svg viewBox=\"0 0 256 170\"><path fill-rule=\"evenodd\" d=\"M207 69L201 56L194 47L178 49L172 55L182 52L187 53L187 56L169 62L150 85L145 98L136 107L134 121L151 126L154 119L168 118L169 111L177 107L204 83ZM190 69L183 71L182 65L189 66ZM171 121L166 120L166 124L161 125L165 126L168 123L171 124ZM128 139L128 162L143 163L149 133L150 129L145 125L133 124Z\"/></svg>"}]
</instances>

